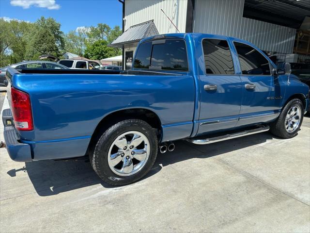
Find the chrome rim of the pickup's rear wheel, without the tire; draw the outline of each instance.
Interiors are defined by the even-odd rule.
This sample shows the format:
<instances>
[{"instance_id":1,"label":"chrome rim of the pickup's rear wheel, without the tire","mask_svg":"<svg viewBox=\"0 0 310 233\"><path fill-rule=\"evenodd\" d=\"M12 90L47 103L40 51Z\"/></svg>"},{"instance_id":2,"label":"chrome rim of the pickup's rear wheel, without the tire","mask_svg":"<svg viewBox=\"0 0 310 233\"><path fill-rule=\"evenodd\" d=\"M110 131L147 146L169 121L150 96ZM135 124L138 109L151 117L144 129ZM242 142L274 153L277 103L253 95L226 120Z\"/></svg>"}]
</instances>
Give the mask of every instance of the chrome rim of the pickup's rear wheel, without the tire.
<instances>
[{"instance_id":1,"label":"chrome rim of the pickup's rear wheel, without the tire","mask_svg":"<svg viewBox=\"0 0 310 233\"><path fill-rule=\"evenodd\" d=\"M147 137L138 131L121 134L109 148L109 167L120 176L131 176L137 173L150 156L149 145Z\"/></svg>"}]
</instances>

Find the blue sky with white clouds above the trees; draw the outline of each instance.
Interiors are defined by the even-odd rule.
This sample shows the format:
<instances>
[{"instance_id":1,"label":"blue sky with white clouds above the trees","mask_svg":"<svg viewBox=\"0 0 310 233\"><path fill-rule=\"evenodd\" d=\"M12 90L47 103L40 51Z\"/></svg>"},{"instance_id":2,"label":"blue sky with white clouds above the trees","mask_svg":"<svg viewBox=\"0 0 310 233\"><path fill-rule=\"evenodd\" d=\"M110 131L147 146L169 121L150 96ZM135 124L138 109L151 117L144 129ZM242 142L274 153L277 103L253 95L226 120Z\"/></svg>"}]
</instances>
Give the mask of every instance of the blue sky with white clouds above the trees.
<instances>
[{"instance_id":1,"label":"blue sky with white clouds above the trees","mask_svg":"<svg viewBox=\"0 0 310 233\"><path fill-rule=\"evenodd\" d=\"M67 33L78 27L106 23L122 28L122 3L118 0L0 0L0 17L34 22L53 17Z\"/></svg>"}]
</instances>

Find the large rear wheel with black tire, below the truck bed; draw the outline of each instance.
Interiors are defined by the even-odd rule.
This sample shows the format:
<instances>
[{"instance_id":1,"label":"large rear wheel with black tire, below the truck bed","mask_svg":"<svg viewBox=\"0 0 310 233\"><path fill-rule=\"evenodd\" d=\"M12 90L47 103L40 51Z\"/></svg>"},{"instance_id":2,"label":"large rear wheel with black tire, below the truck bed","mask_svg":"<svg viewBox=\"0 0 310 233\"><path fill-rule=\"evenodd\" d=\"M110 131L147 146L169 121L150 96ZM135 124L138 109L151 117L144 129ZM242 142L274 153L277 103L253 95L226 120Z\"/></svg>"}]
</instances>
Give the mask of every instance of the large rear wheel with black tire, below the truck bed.
<instances>
[{"instance_id":1,"label":"large rear wheel with black tire, below the truck bed","mask_svg":"<svg viewBox=\"0 0 310 233\"><path fill-rule=\"evenodd\" d=\"M158 150L155 130L140 119L111 126L96 143L91 163L94 171L111 185L140 180L154 165Z\"/></svg>"}]
</instances>

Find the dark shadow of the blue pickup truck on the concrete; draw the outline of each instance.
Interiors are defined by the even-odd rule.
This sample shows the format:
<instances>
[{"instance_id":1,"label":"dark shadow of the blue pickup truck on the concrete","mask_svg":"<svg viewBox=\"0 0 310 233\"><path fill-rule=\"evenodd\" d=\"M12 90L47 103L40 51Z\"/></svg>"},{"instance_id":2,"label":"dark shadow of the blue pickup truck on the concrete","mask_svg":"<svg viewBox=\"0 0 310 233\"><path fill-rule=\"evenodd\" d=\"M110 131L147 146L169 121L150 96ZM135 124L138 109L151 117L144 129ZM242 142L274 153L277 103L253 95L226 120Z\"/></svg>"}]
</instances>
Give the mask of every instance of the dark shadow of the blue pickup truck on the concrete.
<instances>
[{"instance_id":1,"label":"dark shadow of the blue pickup truck on the concrete","mask_svg":"<svg viewBox=\"0 0 310 233\"><path fill-rule=\"evenodd\" d=\"M143 179L153 176L163 167L171 164L192 158L207 159L233 150L259 145L274 138L271 133L259 133L209 145L194 145L182 140L176 141L174 151L165 154L158 153L153 168ZM16 172L28 173L39 196L57 195L95 184L101 184L105 188L115 187L104 183L95 174L88 160L27 162L26 166L12 169L7 174L14 177Z\"/></svg>"}]
</instances>

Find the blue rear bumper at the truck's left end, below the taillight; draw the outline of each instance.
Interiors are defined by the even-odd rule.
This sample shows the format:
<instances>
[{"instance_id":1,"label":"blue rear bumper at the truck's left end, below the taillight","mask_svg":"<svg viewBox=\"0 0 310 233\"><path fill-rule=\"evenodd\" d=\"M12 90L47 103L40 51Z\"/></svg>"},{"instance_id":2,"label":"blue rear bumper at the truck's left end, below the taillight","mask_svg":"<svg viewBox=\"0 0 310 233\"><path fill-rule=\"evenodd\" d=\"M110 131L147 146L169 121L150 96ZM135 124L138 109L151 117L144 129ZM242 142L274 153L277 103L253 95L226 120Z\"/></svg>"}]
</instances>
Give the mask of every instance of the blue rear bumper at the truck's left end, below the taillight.
<instances>
[{"instance_id":1,"label":"blue rear bumper at the truck's left end, below the taillight","mask_svg":"<svg viewBox=\"0 0 310 233\"><path fill-rule=\"evenodd\" d=\"M16 162L32 161L30 145L20 143L20 138L14 125L8 124L9 121L13 123L13 116L10 109L3 110L2 121L4 125L4 141L10 158Z\"/></svg>"}]
</instances>

